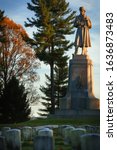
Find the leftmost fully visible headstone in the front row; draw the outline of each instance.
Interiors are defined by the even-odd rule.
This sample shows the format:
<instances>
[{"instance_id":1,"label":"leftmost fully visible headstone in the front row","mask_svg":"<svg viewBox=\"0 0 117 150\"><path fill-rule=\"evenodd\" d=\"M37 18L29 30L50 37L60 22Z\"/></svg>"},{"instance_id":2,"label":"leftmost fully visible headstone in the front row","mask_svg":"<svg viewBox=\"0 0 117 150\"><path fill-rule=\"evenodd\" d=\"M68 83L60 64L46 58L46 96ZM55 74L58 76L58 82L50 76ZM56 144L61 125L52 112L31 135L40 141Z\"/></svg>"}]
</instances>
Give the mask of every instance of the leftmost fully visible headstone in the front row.
<instances>
[{"instance_id":1,"label":"leftmost fully visible headstone in the front row","mask_svg":"<svg viewBox=\"0 0 117 150\"><path fill-rule=\"evenodd\" d=\"M21 131L11 129L6 132L6 142L8 150L21 150Z\"/></svg>"}]
</instances>

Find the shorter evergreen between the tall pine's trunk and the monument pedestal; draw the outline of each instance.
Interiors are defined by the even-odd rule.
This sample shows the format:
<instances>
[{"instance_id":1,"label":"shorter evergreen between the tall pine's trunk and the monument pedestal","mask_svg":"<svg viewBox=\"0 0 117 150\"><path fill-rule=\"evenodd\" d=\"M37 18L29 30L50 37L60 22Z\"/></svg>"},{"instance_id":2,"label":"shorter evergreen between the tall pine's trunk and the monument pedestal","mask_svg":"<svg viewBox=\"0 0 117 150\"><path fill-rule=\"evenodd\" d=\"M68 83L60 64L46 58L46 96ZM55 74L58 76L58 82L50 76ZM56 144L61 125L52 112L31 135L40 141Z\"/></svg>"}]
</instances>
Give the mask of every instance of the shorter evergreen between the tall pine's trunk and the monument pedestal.
<instances>
[{"instance_id":1,"label":"shorter evergreen between the tall pine's trunk and the monument pedestal","mask_svg":"<svg viewBox=\"0 0 117 150\"><path fill-rule=\"evenodd\" d=\"M68 85L68 56L61 56L55 64L55 102L59 108L60 99L66 95Z\"/></svg>"}]
</instances>

